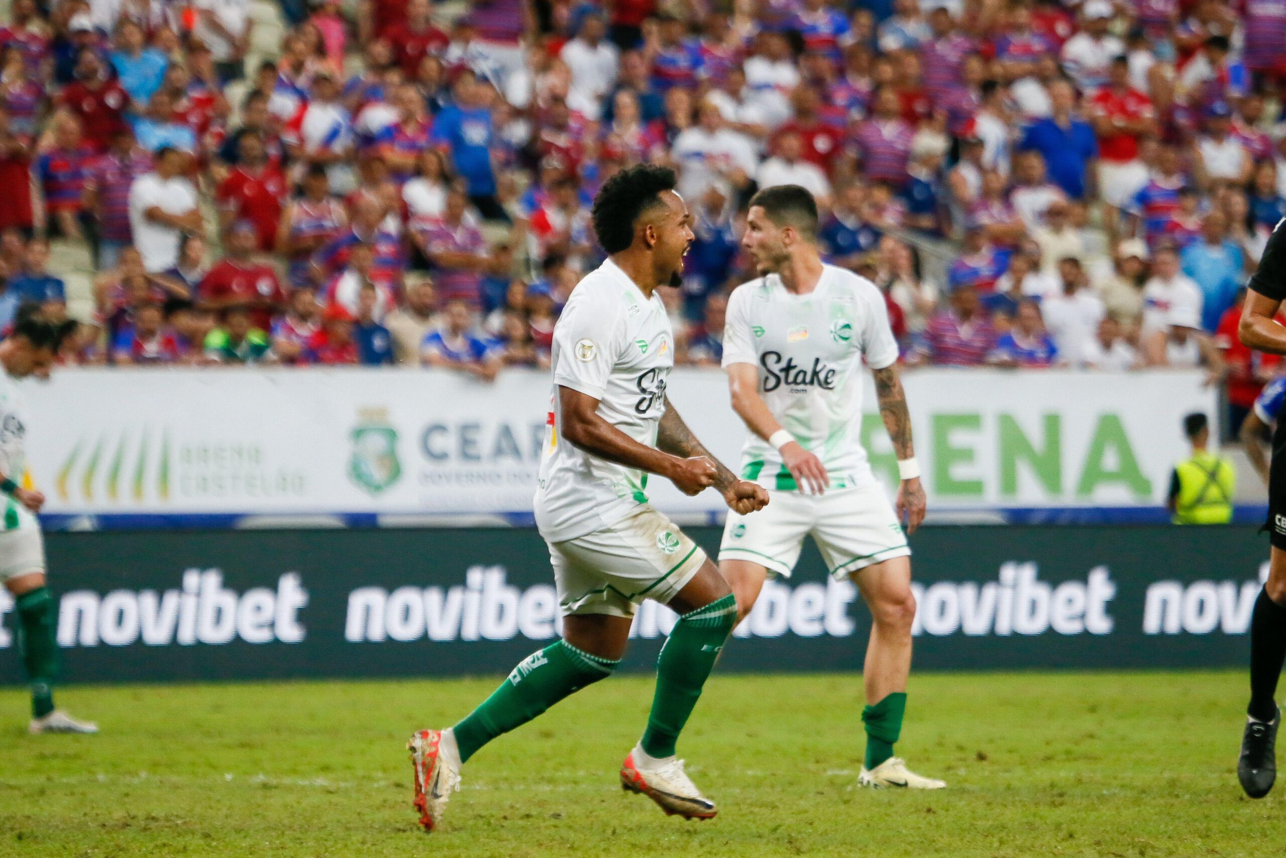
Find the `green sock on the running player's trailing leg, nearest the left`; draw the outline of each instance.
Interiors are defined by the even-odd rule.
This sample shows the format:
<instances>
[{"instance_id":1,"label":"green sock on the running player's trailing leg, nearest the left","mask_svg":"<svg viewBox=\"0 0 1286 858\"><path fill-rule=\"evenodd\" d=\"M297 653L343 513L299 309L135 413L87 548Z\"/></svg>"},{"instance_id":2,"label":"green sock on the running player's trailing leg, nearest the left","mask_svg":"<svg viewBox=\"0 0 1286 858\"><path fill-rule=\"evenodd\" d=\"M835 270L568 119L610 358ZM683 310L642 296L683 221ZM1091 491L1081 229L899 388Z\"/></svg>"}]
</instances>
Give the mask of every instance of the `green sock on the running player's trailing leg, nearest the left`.
<instances>
[{"instance_id":1,"label":"green sock on the running player's trailing leg, nearest the left","mask_svg":"<svg viewBox=\"0 0 1286 858\"><path fill-rule=\"evenodd\" d=\"M460 762L502 733L508 733L588 684L616 670L620 660L581 652L566 641L549 644L518 662L482 705L453 728Z\"/></svg>"}]
</instances>

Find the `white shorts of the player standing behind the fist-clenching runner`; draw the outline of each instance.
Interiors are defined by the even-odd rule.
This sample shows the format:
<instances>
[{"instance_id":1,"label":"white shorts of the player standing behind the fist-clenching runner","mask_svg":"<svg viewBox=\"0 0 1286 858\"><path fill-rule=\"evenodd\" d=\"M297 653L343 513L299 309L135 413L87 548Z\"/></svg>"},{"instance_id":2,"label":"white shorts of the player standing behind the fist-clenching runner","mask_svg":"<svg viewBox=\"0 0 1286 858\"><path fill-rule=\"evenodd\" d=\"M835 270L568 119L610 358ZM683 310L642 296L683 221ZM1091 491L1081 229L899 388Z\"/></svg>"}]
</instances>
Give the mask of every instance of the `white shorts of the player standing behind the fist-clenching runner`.
<instances>
[{"instance_id":1,"label":"white shorts of the player standing behind the fist-clenching runner","mask_svg":"<svg viewBox=\"0 0 1286 858\"><path fill-rule=\"evenodd\" d=\"M769 491L768 506L748 516L728 513L719 560L747 560L790 578L804 538L813 536L836 578L894 557L910 547L892 504L878 485L822 495Z\"/></svg>"}]
</instances>

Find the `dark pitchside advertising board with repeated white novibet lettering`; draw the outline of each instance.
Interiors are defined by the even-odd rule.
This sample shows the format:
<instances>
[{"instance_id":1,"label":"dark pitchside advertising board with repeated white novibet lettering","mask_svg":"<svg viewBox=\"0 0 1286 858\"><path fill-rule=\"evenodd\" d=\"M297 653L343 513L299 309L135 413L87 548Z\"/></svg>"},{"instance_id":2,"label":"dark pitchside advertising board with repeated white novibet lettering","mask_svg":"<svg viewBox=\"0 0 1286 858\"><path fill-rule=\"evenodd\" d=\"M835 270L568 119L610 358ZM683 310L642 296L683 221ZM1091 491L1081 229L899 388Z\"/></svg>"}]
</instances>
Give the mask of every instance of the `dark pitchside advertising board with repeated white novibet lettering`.
<instances>
[{"instance_id":1,"label":"dark pitchside advertising board with repeated white novibet lettering","mask_svg":"<svg viewBox=\"0 0 1286 858\"><path fill-rule=\"evenodd\" d=\"M707 551L719 529L688 531ZM49 535L69 682L500 673L559 633L530 529ZM926 527L912 539L921 669L1245 662L1268 543L1253 527ZM0 590L0 682L21 680ZM651 670L675 615L639 610ZM860 669L869 614L809 545L720 670Z\"/></svg>"}]
</instances>

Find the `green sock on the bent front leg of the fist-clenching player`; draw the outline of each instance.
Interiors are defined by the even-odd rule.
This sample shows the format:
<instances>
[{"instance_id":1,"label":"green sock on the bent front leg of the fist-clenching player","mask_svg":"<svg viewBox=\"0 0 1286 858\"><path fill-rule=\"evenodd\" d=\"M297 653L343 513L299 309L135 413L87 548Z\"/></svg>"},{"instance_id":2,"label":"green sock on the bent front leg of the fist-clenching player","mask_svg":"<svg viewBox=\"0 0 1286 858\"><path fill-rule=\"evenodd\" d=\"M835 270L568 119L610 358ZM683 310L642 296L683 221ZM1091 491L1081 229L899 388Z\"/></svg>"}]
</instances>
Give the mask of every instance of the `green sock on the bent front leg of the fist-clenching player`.
<instances>
[{"instance_id":1,"label":"green sock on the bent front leg of the fist-clenching player","mask_svg":"<svg viewBox=\"0 0 1286 858\"><path fill-rule=\"evenodd\" d=\"M656 662L656 695L643 731L648 756L674 756L701 687L737 621L737 599L728 594L679 617Z\"/></svg>"}]
</instances>

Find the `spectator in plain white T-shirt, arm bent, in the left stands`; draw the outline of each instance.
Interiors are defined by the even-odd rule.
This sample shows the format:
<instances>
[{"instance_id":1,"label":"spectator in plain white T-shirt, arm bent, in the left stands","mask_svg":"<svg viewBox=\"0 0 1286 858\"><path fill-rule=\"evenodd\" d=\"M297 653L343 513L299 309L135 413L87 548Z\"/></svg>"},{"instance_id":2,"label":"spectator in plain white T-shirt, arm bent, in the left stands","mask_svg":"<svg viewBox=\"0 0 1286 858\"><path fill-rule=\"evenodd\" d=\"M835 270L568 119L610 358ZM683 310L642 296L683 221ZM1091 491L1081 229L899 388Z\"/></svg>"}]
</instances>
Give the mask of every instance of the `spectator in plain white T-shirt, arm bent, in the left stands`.
<instances>
[{"instance_id":1,"label":"spectator in plain white T-shirt, arm bent, in the left stands","mask_svg":"<svg viewBox=\"0 0 1286 858\"><path fill-rule=\"evenodd\" d=\"M184 232L202 230L197 189L183 176L186 156L171 147L154 153L153 172L130 187L130 232L148 271L163 271L179 259Z\"/></svg>"}]
</instances>

